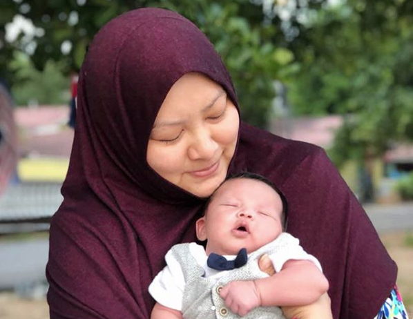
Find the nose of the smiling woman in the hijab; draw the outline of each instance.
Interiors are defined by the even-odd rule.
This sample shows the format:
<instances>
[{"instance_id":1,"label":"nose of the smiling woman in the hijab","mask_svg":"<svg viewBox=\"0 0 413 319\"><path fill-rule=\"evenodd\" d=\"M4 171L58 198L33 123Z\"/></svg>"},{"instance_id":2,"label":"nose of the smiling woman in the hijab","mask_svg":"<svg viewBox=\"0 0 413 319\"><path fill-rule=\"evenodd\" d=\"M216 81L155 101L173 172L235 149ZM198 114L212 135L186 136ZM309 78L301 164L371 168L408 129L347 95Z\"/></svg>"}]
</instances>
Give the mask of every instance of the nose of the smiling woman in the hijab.
<instances>
[{"instance_id":1,"label":"nose of the smiling woman in the hijab","mask_svg":"<svg viewBox=\"0 0 413 319\"><path fill-rule=\"evenodd\" d=\"M200 130L193 138L188 149L191 160L210 160L215 155L218 143L215 142L208 130Z\"/></svg>"}]
</instances>

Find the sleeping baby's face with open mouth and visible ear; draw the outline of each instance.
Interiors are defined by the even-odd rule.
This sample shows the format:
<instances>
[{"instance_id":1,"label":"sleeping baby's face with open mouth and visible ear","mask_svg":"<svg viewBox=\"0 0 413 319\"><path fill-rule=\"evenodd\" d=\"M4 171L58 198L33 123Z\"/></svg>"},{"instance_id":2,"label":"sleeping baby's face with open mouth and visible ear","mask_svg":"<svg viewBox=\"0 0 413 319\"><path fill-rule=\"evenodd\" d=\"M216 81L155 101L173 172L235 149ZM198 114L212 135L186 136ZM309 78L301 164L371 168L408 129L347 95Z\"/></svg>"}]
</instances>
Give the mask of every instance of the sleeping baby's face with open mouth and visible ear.
<instances>
[{"instance_id":1,"label":"sleeping baby's face with open mouth and visible ear","mask_svg":"<svg viewBox=\"0 0 413 319\"><path fill-rule=\"evenodd\" d=\"M196 225L199 240L208 240L206 253L248 253L275 240L282 232L282 201L271 186L237 178L215 193L205 216Z\"/></svg>"}]
</instances>

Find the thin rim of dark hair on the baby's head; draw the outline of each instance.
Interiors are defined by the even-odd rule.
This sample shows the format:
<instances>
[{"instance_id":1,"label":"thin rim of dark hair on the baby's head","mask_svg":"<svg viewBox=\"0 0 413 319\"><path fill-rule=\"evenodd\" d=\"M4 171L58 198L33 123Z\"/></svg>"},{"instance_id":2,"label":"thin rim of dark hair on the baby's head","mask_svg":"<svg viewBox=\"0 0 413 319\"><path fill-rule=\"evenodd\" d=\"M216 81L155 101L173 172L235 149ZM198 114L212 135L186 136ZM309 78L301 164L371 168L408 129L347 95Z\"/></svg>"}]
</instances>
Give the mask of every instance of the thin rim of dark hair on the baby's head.
<instances>
[{"instance_id":1,"label":"thin rim of dark hair on the baby's head","mask_svg":"<svg viewBox=\"0 0 413 319\"><path fill-rule=\"evenodd\" d=\"M282 224L282 230L285 231L287 229L287 223L288 223L288 202L287 202L287 198L285 197L285 195L280 191L280 189L278 189L278 187L273 182L271 182L266 177L264 177L260 174L257 174L257 173L241 172L241 173L237 173L237 174L234 174L234 175L229 175L229 177L227 177L224 180L224 182L222 182L220 184L220 186L218 186L218 188L215 189L215 191L212 193L212 195L209 196L208 200L206 200L206 202L204 204L204 208L203 208L203 214L206 213L206 209L208 209L209 203L211 203L211 201L213 200L213 197L214 197L215 193L217 193L217 191L221 188L221 186L225 182L227 182L229 180L236 180L236 179L241 179L241 178L245 178L245 179L248 179L248 180L258 180L259 182L263 182L263 183L267 184L268 186L271 187L271 189L276 191L276 193L280 196L281 202L282 202L281 224Z\"/></svg>"}]
</instances>

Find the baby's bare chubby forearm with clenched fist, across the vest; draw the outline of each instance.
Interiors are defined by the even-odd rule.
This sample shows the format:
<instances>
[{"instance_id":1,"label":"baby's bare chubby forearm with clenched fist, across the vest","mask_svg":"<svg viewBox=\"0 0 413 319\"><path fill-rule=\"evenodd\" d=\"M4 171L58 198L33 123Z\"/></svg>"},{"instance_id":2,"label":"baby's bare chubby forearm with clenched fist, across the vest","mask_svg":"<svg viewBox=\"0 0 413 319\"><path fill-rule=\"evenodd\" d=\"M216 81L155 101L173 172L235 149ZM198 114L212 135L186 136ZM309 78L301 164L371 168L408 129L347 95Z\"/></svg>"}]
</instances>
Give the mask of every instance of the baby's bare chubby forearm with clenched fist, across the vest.
<instances>
[{"instance_id":1,"label":"baby's bare chubby forearm with clenched fist, across the vest","mask_svg":"<svg viewBox=\"0 0 413 319\"><path fill-rule=\"evenodd\" d=\"M328 290L323 273L308 260L288 260L269 278L230 282L220 292L225 305L240 316L258 306L308 305Z\"/></svg>"}]
</instances>

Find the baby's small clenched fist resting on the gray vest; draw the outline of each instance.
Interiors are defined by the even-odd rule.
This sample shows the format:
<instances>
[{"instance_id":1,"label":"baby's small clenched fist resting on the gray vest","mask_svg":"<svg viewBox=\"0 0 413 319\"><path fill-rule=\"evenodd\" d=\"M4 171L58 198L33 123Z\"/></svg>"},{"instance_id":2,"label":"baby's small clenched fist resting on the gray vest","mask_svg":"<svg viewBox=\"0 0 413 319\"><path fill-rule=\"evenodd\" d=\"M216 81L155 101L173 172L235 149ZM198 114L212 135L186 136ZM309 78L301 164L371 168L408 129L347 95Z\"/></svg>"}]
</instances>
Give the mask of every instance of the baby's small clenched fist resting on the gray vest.
<instances>
[{"instance_id":1,"label":"baby's small clenched fist resting on the gray vest","mask_svg":"<svg viewBox=\"0 0 413 319\"><path fill-rule=\"evenodd\" d=\"M260 293L251 280L230 282L222 288L220 296L225 300L225 305L241 317L261 305Z\"/></svg>"}]
</instances>

